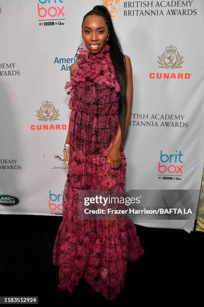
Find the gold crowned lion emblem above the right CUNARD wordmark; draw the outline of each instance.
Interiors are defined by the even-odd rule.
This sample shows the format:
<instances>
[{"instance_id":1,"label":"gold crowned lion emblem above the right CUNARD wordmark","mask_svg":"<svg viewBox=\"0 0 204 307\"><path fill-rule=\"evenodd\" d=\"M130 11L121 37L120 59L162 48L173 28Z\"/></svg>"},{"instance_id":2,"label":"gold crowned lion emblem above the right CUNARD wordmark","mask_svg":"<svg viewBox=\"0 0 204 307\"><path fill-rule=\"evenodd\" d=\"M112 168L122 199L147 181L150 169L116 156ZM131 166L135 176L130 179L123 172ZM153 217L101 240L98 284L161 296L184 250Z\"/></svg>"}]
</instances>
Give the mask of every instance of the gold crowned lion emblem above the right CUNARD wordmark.
<instances>
[{"instance_id":1,"label":"gold crowned lion emblem above the right CUNARD wordmark","mask_svg":"<svg viewBox=\"0 0 204 307\"><path fill-rule=\"evenodd\" d=\"M159 61L157 61L157 63L160 64L159 67L166 69L180 68L182 67L181 64L184 62L182 61L183 56L180 56L177 48L172 45L167 46L162 55L158 56L158 59Z\"/></svg>"}]
</instances>

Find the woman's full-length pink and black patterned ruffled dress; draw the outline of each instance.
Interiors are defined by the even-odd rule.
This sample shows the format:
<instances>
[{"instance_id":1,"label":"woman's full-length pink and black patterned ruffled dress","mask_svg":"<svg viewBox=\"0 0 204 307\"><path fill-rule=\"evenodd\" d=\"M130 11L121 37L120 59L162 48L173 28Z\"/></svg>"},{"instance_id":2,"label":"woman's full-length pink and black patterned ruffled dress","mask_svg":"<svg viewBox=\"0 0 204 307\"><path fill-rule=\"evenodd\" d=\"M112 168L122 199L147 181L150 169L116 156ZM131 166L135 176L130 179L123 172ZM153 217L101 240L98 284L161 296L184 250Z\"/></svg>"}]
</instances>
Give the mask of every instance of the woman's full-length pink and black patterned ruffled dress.
<instances>
[{"instance_id":1,"label":"woman's full-length pink and black patterned ruffled dress","mask_svg":"<svg viewBox=\"0 0 204 307\"><path fill-rule=\"evenodd\" d=\"M113 169L106 154L118 125L119 83L107 43L96 55L82 43L76 52L78 67L65 90L73 110L70 130L69 171L63 194L63 221L53 249L59 266L58 287L74 292L83 276L107 300L124 287L127 263L144 254L132 220L79 220L79 189L125 189L126 157L120 146L121 165Z\"/></svg>"}]
</instances>

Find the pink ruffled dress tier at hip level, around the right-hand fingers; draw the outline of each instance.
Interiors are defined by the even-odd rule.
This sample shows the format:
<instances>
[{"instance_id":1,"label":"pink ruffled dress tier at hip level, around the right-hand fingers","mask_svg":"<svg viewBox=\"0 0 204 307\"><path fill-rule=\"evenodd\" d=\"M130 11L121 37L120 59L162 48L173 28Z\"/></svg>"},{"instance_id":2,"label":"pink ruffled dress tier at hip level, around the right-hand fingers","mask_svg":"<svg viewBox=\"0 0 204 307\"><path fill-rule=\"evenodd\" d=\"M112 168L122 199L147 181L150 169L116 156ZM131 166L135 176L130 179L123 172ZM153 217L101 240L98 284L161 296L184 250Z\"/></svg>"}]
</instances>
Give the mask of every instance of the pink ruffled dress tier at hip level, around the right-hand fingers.
<instances>
[{"instance_id":1,"label":"pink ruffled dress tier at hip level, around the right-hand fingers","mask_svg":"<svg viewBox=\"0 0 204 307\"><path fill-rule=\"evenodd\" d=\"M84 154L83 150L70 148L69 178L77 189L114 190L125 189L126 157L120 147L121 165L114 169L106 156L111 144L102 154Z\"/></svg>"}]
</instances>

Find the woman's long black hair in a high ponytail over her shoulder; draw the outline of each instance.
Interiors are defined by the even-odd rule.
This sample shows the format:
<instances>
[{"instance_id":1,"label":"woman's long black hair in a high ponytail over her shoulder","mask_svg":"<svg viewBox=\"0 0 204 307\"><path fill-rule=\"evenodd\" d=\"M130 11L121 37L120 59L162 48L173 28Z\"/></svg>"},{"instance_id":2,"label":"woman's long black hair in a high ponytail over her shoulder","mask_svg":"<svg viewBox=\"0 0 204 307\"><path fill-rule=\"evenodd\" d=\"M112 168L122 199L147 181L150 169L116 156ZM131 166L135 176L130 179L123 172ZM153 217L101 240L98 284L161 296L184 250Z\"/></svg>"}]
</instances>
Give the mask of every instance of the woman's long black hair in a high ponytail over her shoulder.
<instances>
[{"instance_id":1,"label":"woman's long black hair in a high ponytail over her shoulder","mask_svg":"<svg viewBox=\"0 0 204 307\"><path fill-rule=\"evenodd\" d=\"M125 57L122 52L119 39L115 33L110 13L105 6L95 6L90 12L88 12L83 18L82 28L85 18L88 15L93 15L93 14L102 16L108 27L108 31L110 31L108 39L108 44L110 45L110 58L113 63L116 79L120 85L120 92L118 93L119 95L118 117L120 121L121 134L122 134L121 142L123 142L124 125L127 113L127 98L126 98L127 75L124 63Z\"/></svg>"}]
</instances>

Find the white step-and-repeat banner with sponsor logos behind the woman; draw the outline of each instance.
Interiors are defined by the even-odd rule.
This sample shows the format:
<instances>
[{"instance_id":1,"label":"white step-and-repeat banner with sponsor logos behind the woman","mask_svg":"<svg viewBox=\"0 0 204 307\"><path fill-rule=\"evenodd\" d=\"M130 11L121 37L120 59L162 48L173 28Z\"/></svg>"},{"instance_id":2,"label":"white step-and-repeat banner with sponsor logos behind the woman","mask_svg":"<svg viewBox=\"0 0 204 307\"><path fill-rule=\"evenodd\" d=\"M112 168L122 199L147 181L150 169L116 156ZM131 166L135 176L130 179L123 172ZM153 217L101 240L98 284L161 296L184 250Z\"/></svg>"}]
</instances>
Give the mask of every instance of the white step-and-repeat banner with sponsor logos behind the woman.
<instances>
[{"instance_id":1,"label":"white step-and-repeat banner with sponsor logos behind the woman","mask_svg":"<svg viewBox=\"0 0 204 307\"><path fill-rule=\"evenodd\" d=\"M126 190L200 189L203 0L0 0L1 214L63 214L62 152L71 113L64 87L83 17L95 5L108 8L132 63ZM193 219L134 222L187 232L194 225Z\"/></svg>"}]
</instances>

